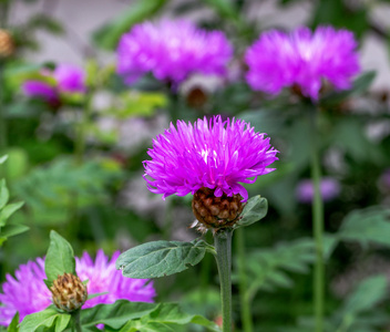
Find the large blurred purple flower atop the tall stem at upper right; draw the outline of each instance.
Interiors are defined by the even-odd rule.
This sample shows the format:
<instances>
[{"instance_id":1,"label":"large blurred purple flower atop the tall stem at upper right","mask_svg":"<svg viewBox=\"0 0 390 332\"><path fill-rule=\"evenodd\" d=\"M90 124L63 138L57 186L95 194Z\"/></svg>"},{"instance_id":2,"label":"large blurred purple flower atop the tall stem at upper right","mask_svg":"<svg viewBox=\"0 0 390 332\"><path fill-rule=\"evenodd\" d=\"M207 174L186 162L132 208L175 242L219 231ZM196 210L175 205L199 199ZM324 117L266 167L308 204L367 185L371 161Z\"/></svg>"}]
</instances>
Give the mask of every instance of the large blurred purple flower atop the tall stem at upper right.
<instances>
[{"instance_id":1,"label":"large blurred purple flower atop the tall stem at upper right","mask_svg":"<svg viewBox=\"0 0 390 332\"><path fill-rule=\"evenodd\" d=\"M319 27L315 32L298 28L291 33L265 32L247 50L247 82L254 90L277 94L298 85L305 96L318 100L322 80L336 90L351 86L360 72L352 32Z\"/></svg>"}]
</instances>

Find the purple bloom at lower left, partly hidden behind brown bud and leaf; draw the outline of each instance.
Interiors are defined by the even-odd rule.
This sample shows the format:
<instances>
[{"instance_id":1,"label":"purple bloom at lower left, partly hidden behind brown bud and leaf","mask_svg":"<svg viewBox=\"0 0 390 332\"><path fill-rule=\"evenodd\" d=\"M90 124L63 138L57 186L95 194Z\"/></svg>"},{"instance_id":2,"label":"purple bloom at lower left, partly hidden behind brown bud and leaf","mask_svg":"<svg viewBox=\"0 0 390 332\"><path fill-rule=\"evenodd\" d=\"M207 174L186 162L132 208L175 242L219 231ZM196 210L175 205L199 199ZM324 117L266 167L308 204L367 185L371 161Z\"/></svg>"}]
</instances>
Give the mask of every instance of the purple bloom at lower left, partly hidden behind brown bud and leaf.
<instances>
[{"instance_id":1,"label":"purple bloom at lower left, partly hidden behind brown bud and leaf","mask_svg":"<svg viewBox=\"0 0 390 332\"><path fill-rule=\"evenodd\" d=\"M116 300L153 302L155 290L147 279L130 279L115 269L115 261L120 252L115 252L111 260L102 250L98 251L96 259L84 252L76 258L76 272L81 280L89 280L88 293L107 294L86 300L83 309L101 303L114 303ZM20 321L30 313L41 311L52 304L51 292L43 282L44 261L38 258L22 264L16 271L16 278L7 274L0 293L0 325L8 325L13 315L19 311Z\"/></svg>"}]
</instances>

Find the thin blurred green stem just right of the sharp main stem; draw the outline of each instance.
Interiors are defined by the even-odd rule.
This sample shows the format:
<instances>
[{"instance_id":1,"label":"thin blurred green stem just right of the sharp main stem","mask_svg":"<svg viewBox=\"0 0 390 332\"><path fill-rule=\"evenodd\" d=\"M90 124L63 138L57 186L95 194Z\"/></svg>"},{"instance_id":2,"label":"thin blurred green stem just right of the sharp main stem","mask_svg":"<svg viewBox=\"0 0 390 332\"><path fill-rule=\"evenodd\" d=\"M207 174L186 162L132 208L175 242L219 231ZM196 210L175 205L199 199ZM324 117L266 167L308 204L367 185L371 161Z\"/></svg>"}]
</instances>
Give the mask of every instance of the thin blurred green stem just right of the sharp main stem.
<instances>
[{"instance_id":1,"label":"thin blurred green stem just right of the sharp main stem","mask_svg":"<svg viewBox=\"0 0 390 332\"><path fill-rule=\"evenodd\" d=\"M238 228L236 230L236 249L237 249L237 268L238 268L238 289L239 289L239 298L240 298L240 305L242 305L242 322L243 322L243 330L244 332L253 332L254 324L252 320L252 312L250 312L250 299L248 297L248 279L246 274L246 267L245 267L245 237L244 237L244 228Z\"/></svg>"}]
</instances>

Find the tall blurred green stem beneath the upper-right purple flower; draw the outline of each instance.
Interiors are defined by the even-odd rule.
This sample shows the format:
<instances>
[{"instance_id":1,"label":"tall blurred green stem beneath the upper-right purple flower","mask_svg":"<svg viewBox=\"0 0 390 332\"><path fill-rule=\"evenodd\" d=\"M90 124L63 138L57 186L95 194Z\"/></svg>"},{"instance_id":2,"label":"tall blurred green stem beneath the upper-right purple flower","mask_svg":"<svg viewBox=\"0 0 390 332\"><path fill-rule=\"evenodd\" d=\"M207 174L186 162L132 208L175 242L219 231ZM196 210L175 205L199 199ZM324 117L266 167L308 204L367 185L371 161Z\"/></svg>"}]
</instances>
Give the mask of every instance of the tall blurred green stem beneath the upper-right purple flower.
<instances>
[{"instance_id":1,"label":"tall blurred green stem beneath the upper-right purple flower","mask_svg":"<svg viewBox=\"0 0 390 332\"><path fill-rule=\"evenodd\" d=\"M315 188L312 203L312 230L316 245L314 273L314 305L316 332L324 331L325 262L324 262L324 203L320 191L321 169L317 142L317 110L311 117L311 180Z\"/></svg>"}]
</instances>

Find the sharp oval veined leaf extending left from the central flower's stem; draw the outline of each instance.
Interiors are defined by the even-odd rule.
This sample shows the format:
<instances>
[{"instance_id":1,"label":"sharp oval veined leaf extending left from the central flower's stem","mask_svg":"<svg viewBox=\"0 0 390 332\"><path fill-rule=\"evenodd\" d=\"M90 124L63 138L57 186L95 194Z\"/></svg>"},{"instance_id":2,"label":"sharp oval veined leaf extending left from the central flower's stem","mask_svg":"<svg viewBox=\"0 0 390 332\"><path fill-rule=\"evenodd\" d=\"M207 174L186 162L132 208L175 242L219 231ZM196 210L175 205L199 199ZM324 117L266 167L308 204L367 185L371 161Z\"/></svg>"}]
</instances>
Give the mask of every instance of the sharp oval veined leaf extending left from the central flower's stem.
<instances>
[{"instance_id":1,"label":"sharp oval veined leaf extending left from the central flower's stem","mask_svg":"<svg viewBox=\"0 0 390 332\"><path fill-rule=\"evenodd\" d=\"M116 269L127 278L160 278L197 264L205 256L204 241L154 241L137 246L116 260Z\"/></svg>"}]
</instances>

